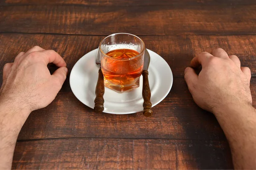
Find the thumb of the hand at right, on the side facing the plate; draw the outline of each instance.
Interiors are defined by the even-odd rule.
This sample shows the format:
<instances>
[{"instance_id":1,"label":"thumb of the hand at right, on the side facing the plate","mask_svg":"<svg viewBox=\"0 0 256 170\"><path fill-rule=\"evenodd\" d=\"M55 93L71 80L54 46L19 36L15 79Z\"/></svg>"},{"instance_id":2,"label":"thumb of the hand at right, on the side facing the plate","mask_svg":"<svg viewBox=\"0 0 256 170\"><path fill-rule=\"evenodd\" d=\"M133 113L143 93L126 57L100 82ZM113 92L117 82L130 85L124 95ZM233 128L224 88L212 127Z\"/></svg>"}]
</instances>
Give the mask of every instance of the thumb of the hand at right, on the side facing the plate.
<instances>
[{"instance_id":1,"label":"thumb of the hand at right, on the side facing the plate","mask_svg":"<svg viewBox=\"0 0 256 170\"><path fill-rule=\"evenodd\" d=\"M192 94L194 86L198 81L198 75L195 73L195 70L191 67L187 67L184 71L184 79L188 85L189 91Z\"/></svg>"}]
</instances>

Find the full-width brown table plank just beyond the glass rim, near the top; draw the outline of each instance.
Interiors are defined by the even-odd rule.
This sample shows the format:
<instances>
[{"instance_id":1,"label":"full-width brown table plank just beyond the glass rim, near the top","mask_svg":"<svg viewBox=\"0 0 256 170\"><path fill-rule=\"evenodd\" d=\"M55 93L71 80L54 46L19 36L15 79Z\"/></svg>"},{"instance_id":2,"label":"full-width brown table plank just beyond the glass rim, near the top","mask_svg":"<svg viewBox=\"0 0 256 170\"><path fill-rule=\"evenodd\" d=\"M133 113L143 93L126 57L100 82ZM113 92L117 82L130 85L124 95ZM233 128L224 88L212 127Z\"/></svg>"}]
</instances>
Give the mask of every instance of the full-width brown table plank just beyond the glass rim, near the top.
<instances>
[{"instance_id":1,"label":"full-width brown table plank just beyond the glass rim, near the top","mask_svg":"<svg viewBox=\"0 0 256 170\"><path fill-rule=\"evenodd\" d=\"M216 12L218 11L218 12ZM2 6L0 32L109 35L256 34L250 6Z\"/></svg>"}]
</instances>

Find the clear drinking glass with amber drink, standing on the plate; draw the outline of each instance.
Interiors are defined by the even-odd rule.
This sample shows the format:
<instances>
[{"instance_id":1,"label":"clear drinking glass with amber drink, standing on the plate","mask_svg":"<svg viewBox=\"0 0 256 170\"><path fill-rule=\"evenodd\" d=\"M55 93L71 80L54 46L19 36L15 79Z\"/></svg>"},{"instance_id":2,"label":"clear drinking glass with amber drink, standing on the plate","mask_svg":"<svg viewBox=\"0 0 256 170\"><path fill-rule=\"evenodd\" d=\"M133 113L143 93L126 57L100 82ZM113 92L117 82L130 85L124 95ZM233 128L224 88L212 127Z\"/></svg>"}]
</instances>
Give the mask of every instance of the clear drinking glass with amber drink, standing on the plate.
<instances>
[{"instance_id":1,"label":"clear drinking glass with amber drink, standing on the plate","mask_svg":"<svg viewBox=\"0 0 256 170\"><path fill-rule=\"evenodd\" d=\"M112 34L99 44L104 85L123 93L140 86L145 44L139 37Z\"/></svg>"}]
</instances>

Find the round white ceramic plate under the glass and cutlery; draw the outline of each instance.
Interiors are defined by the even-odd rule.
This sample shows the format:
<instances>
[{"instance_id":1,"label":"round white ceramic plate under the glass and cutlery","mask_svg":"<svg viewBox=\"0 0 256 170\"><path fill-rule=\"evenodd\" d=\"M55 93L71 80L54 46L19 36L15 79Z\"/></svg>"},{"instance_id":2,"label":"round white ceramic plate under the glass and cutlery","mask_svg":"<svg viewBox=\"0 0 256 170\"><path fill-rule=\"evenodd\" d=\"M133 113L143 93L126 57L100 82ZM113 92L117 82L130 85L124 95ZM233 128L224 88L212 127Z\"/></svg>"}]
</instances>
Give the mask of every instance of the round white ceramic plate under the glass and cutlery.
<instances>
[{"instance_id":1,"label":"round white ceramic plate under the glass and cutlery","mask_svg":"<svg viewBox=\"0 0 256 170\"><path fill-rule=\"evenodd\" d=\"M70 73L70 87L84 105L94 108L95 87L99 66L95 63L97 49L90 51L79 59ZM167 62L155 52L148 50L150 64L148 81L151 89L152 107L161 102L172 88L172 71ZM143 111L142 76L140 87L119 94L105 88L104 111L113 114L129 114Z\"/></svg>"}]
</instances>

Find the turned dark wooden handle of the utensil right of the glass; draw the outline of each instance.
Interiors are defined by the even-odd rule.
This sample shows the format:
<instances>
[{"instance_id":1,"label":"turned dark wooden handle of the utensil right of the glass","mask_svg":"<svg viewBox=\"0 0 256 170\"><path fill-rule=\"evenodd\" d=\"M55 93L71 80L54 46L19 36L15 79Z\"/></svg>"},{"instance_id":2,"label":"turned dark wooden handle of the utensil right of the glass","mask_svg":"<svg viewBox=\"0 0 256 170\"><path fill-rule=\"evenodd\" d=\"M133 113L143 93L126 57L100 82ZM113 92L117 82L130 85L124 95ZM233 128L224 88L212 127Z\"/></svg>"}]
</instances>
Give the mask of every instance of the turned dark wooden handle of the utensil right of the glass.
<instances>
[{"instance_id":1,"label":"turned dark wooden handle of the utensil right of the glass","mask_svg":"<svg viewBox=\"0 0 256 170\"><path fill-rule=\"evenodd\" d=\"M149 116L152 116L153 111L151 110L152 104L150 102L151 91L150 91L149 82L148 82L148 71L143 70L142 76L143 76L142 96L144 99L143 115L146 117L149 117Z\"/></svg>"}]
</instances>

